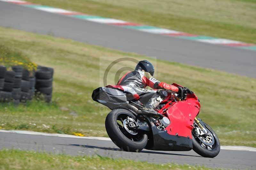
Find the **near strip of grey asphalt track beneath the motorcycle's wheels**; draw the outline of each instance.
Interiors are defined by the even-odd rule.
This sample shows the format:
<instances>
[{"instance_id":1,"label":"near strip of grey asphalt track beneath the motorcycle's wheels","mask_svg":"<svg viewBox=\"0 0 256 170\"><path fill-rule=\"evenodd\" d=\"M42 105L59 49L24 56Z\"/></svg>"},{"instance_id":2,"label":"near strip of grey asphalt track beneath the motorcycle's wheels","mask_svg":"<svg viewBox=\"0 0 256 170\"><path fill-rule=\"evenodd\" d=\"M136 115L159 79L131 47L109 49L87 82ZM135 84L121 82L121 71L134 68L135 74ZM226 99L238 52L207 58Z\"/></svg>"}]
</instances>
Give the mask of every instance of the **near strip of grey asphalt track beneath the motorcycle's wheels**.
<instances>
[{"instance_id":1,"label":"near strip of grey asphalt track beneath the motorcycle's wheels","mask_svg":"<svg viewBox=\"0 0 256 170\"><path fill-rule=\"evenodd\" d=\"M192 151L120 151L112 141L0 132L0 149L21 149L125 158L153 163L177 163L231 169L256 169L256 152L221 150L215 158L203 158Z\"/></svg>"}]
</instances>

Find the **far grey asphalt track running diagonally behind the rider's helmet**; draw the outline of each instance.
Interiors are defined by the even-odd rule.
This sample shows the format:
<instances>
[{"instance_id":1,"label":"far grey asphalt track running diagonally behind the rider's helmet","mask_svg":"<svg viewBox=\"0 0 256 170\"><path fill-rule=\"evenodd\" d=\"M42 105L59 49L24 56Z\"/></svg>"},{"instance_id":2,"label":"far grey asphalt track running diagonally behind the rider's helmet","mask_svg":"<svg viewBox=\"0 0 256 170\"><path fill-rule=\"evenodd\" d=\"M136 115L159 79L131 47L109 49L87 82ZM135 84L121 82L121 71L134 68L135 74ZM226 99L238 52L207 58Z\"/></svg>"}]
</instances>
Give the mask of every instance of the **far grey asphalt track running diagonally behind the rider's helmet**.
<instances>
[{"instance_id":1,"label":"far grey asphalt track running diagonally behind the rider's helmet","mask_svg":"<svg viewBox=\"0 0 256 170\"><path fill-rule=\"evenodd\" d=\"M252 50L150 34L6 2L0 2L0 26L256 78L256 51Z\"/></svg>"}]
</instances>

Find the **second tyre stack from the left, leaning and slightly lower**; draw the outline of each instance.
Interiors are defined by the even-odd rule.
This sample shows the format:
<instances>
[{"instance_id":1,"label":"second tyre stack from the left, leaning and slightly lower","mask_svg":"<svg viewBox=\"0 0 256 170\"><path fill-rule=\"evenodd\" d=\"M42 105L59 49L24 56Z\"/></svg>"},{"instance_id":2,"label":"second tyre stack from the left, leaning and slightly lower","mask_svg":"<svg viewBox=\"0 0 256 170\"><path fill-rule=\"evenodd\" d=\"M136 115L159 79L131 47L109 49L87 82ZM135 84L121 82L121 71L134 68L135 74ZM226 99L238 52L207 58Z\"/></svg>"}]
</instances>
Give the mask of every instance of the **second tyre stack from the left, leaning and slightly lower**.
<instances>
[{"instance_id":1,"label":"second tyre stack from the left, leaning and slightly lower","mask_svg":"<svg viewBox=\"0 0 256 170\"><path fill-rule=\"evenodd\" d=\"M12 89L14 82L14 71L6 71L4 75L4 85L0 91L0 101L10 102L12 100Z\"/></svg>"}]
</instances>

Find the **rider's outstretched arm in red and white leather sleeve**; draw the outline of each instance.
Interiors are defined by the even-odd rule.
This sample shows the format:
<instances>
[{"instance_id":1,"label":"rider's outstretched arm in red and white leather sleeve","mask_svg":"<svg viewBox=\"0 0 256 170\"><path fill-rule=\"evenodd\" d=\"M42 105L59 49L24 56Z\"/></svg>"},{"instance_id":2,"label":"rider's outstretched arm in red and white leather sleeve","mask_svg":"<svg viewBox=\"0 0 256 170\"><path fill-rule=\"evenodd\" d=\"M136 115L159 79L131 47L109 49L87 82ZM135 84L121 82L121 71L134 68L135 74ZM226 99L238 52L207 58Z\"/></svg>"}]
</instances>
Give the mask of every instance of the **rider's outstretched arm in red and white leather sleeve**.
<instances>
[{"instance_id":1,"label":"rider's outstretched arm in red and white leather sleeve","mask_svg":"<svg viewBox=\"0 0 256 170\"><path fill-rule=\"evenodd\" d=\"M154 77L148 79L146 76L143 76L142 80L147 86L151 87L152 89L165 89L171 90L173 92L179 92L178 87L173 86L171 84L167 84L165 82L160 82L156 80Z\"/></svg>"}]
</instances>

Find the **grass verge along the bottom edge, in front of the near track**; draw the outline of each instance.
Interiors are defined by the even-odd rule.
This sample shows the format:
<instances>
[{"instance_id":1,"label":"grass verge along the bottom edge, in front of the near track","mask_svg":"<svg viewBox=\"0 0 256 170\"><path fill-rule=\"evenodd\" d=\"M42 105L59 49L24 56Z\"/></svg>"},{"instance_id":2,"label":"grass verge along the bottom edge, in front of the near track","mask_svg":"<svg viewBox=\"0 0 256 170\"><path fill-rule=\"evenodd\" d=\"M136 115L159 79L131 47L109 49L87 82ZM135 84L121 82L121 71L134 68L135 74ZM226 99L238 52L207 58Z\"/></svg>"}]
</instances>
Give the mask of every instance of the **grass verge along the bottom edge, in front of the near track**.
<instances>
[{"instance_id":1,"label":"grass verge along the bottom edge, in front of the near track","mask_svg":"<svg viewBox=\"0 0 256 170\"><path fill-rule=\"evenodd\" d=\"M122 169L122 170L144 170L144 169L212 169L204 166L190 166L177 164L152 164L142 161L132 161L125 159L112 159L96 155L88 156L68 156L65 154L47 154L33 151L1 150L0 169L35 169L35 170L59 170L65 169Z\"/></svg>"}]
</instances>

